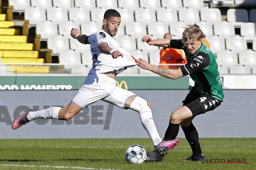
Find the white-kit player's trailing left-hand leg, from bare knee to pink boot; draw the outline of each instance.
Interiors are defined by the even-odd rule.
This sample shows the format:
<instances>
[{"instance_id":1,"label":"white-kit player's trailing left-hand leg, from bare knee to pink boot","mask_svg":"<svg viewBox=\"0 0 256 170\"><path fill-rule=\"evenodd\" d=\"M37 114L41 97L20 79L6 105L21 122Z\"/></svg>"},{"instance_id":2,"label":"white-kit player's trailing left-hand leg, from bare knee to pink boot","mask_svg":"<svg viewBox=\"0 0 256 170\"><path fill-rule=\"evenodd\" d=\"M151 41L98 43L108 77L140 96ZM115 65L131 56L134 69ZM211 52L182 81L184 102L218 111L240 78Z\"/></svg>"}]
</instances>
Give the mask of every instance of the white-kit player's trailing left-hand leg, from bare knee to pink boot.
<instances>
[{"instance_id":1,"label":"white-kit player's trailing left-hand leg, from bare knee to pink boot","mask_svg":"<svg viewBox=\"0 0 256 170\"><path fill-rule=\"evenodd\" d=\"M18 129L25 123L35 119L59 119L69 120L79 113L83 108L70 102L65 108L49 107L41 111L34 111L32 109L25 112L23 115L14 119L12 129Z\"/></svg>"}]
</instances>

